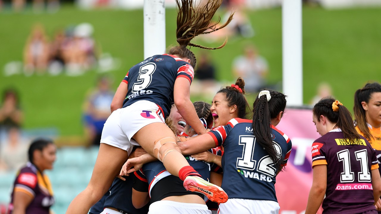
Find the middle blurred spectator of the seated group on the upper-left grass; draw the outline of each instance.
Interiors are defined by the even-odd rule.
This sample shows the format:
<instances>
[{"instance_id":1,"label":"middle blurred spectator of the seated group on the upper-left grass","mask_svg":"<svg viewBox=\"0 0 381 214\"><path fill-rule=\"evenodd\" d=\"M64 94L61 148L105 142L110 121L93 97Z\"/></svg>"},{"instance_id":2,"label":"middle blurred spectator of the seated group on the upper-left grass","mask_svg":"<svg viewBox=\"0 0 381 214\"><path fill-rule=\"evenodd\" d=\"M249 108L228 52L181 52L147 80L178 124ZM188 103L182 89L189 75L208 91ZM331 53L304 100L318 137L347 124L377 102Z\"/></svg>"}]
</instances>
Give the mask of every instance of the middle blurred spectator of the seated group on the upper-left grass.
<instances>
[{"instance_id":1,"label":"middle blurred spectator of the seated group on the upper-left grass","mask_svg":"<svg viewBox=\"0 0 381 214\"><path fill-rule=\"evenodd\" d=\"M57 75L64 69L63 48L66 42L65 33L63 30L58 30L54 35L54 40L50 45L49 73Z\"/></svg>"}]
</instances>

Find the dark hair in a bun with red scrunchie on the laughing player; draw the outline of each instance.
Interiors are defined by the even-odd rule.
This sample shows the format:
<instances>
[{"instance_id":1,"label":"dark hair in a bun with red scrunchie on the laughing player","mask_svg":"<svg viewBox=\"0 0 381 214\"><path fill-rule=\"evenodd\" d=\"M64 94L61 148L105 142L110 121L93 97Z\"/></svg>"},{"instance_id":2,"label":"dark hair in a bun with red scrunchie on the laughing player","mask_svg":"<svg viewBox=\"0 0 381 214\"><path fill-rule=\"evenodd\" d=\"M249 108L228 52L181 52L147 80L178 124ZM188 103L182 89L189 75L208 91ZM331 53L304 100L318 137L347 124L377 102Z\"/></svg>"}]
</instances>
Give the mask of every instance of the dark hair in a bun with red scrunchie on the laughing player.
<instances>
[{"instance_id":1,"label":"dark hair in a bun with red scrunchie on the laughing player","mask_svg":"<svg viewBox=\"0 0 381 214\"><path fill-rule=\"evenodd\" d=\"M237 87L235 87L237 86ZM242 91L240 91L239 89ZM245 81L239 77L237 81L235 81L235 84L232 86L226 86L222 89L220 89L218 93L223 93L225 95L225 100L227 101L228 106L237 105L237 112L238 117L247 119L250 106L247 102L246 97L244 96L245 93Z\"/></svg>"}]
</instances>

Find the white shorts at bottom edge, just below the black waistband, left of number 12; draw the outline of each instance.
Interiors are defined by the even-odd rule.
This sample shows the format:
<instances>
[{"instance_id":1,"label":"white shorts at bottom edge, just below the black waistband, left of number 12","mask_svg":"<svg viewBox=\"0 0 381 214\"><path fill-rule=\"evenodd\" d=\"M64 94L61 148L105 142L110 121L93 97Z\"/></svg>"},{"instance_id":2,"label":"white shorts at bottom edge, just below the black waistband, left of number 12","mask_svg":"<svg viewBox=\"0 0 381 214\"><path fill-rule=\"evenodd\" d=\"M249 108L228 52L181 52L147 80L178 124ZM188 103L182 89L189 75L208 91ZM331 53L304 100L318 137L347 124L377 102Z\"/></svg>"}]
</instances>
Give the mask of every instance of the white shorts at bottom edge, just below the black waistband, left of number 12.
<instances>
[{"instance_id":1,"label":"white shorts at bottom edge, just below the black waistband, left of number 12","mask_svg":"<svg viewBox=\"0 0 381 214\"><path fill-rule=\"evenodd\" d=\"M176 201L156 201L149 206L148 214L211 214L205 204L181 203Z\"/></svg>"}]
</instances>

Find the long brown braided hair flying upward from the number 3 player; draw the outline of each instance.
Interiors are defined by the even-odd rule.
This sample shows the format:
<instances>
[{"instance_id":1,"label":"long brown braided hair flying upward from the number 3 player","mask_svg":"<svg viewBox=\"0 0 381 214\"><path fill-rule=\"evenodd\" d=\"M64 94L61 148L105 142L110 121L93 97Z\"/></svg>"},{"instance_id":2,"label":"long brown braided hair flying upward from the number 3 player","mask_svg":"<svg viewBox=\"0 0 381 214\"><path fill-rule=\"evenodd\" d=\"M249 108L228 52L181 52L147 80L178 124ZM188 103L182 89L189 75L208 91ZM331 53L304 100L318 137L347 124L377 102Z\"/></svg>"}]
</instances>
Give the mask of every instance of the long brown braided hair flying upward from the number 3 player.
<instances>
[{"instance_id":1,"label":"long brown braided hair flying upward from the number 3 player","mask_svg":"<svg viewBox=\"0 0 381 214\"><path fill-rule=\"evenodd\" d=\"M196 67L196 57L194 53L187 48L188 45L209 50L223 48L226 45L227 39L217 48L207 48L191 43L192 38L200 34L209 34L222 29L232 21L233 13L221 27L216 28L220 18L218 19L218 22L211 25L211 19L219 6L221 6L222 1L223 0L208 0L205 5L195 6L193 0L176 0L176 5L178 7L176 41L179 46L172 47L168 51L168 54L190 59L192 67Z\"/></svg>"}]
</instances>

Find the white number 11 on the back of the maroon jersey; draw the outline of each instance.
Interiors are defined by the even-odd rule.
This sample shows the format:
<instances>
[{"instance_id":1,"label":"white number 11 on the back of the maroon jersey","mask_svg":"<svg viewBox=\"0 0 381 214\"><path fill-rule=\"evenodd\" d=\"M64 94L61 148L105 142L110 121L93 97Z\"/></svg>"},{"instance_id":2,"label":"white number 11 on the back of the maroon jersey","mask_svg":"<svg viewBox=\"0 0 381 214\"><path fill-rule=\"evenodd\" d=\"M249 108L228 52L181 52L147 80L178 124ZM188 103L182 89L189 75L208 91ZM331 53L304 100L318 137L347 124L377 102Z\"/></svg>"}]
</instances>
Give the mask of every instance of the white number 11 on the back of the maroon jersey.
<instances>
[{"instance_id":1,"label":"white number 11 on the back of the maroon jersey","mask_svg":"<svg viewBox=\"0 0 381 214\"><path fill-rule=\"evenodd\" d=\"M371 176L368 169L368 152L366 149L359 150L355 152L356 160L360 161L361 166L361 172L358 173L359 182L370 182ZM349 150L341 150L337 153L337 158L339 161L343 161L343 167L344 172L341 172L340 181L342 183L345 182L353 182L355 180L354 178L354 172L351 171L351 164L357 164L357 163L351 163L351 158L349 156Z\"/></svg>"}]
</instances>

